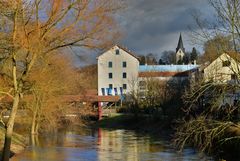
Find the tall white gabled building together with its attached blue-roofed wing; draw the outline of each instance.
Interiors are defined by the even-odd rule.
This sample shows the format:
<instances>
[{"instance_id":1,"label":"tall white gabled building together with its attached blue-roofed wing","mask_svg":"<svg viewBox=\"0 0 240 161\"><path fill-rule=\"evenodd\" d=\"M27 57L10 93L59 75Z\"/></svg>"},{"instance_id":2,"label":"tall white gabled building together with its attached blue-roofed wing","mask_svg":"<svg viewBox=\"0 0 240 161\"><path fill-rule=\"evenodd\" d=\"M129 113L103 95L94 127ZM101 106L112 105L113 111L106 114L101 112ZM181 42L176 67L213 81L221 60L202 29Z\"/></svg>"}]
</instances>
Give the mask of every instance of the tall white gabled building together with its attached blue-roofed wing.
<instances>
[{"instance_id":1,"label":"tall white gabled building together with its attached blue-roofed wing","mask_svg":"<svg viewBox=\"0 0 240 161\"><path fill-rule=\"evenodd\" d=\"M138 57L115 45L98 58L98 95L121 95L149 77L176 83L189 78L197 65L139 65Z\"/></svg>"}]
</instances>

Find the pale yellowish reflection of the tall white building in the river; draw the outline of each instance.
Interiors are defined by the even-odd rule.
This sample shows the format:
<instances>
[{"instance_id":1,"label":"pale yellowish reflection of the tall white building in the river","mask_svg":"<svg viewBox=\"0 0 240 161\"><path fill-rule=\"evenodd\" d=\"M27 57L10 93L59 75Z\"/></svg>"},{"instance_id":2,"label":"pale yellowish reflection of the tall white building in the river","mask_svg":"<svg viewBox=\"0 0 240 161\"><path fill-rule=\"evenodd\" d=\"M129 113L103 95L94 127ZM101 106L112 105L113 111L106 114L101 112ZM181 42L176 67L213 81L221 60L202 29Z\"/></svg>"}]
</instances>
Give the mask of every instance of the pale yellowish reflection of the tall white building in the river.
<instances>
[{"instance_id":1,"label":"pale yellowish reflection of the tall white building in the river","mask_svg":"<svg viewBox=\"0 0 240 161\"><path fill-rule=\"evenodd\" d=\"M141 154L151 151L149 138L137 137L125 130L99 130L99 161L138 161Z\"/></svg>"}]
</instances>

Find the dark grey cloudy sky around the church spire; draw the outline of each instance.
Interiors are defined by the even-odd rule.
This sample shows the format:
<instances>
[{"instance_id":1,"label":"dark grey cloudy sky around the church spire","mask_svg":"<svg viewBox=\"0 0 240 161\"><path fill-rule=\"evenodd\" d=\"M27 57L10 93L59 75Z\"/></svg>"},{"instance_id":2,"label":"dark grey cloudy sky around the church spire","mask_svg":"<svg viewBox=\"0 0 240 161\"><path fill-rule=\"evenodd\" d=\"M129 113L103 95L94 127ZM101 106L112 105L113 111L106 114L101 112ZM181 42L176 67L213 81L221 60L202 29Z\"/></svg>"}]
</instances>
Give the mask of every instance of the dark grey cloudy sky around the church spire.
<instances>
[{"instance_id":1,"label":"dark grey cloudy sky around the church spire","mask_svg":"<svg viewBox=\"0 0 240 161\"><path fill-rule=\"evenodd\" d=\"M208 0L127 0L127 7L117 14L123 33L120 44L138 55L159 55L165 50L175 51L181 32L187 51L193 46L202 51L201 46L192 44L189 30L195 25L195 11L203 17L213 17Z\"/></svg>"}]
</instances>

